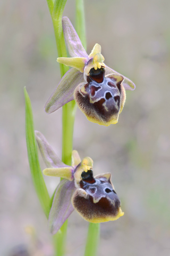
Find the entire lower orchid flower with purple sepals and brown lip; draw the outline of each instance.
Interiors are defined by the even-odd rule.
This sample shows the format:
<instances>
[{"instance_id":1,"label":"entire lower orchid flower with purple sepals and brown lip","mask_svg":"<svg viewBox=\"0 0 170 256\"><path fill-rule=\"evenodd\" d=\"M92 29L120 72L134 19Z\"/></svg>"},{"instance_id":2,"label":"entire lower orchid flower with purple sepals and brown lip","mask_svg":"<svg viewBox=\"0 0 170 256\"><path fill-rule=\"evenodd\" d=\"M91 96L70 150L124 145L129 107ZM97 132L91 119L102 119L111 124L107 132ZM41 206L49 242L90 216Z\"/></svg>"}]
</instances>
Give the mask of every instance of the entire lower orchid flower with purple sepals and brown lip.
<instances>
[{"instance_id":1,"label":"entire lower orchid flower with purple sepals and brown lip","mask_svg":"<svg viewBox=\"0 0 170 256\"><path fill-rule=\"evenodd\" d=\"M72 152L72 166L64 164L50 147L43 134L36 131L38 146L47 165L45 175L63 178L58 184L48 225L52 234L57 233L75 209L89 222L117 220L123 216L121 202L111 181L111 173L94 177L93 161L81 161L76 150Z\"/></svg>"}]
</instances>

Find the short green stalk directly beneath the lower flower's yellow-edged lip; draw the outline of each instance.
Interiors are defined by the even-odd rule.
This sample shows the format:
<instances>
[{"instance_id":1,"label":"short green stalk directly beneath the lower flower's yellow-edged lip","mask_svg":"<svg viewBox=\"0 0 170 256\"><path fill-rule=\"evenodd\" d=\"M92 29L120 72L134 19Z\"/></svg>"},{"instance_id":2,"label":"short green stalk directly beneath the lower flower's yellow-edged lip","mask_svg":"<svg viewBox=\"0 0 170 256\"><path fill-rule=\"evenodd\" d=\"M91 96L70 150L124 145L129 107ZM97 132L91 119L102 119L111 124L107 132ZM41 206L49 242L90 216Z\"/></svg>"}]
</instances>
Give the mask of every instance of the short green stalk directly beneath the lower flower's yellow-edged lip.
<instances>
[{"instance_id":1,"label":"short green stalk directly beneath the lower flower's yellow-edged lip","mask_svg":"<svg viewBox=\"0 0 170 256\"><path fill-rule=\"evenodd\" d=\"M99 242L100 223L89 223L84 256L96 256Z\"/></svg>"}]
</instances>

